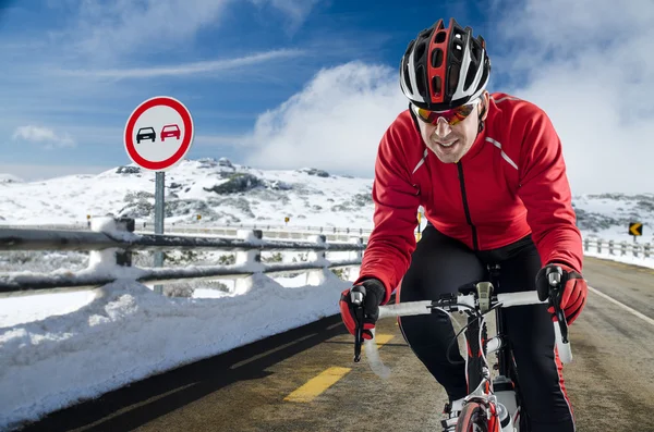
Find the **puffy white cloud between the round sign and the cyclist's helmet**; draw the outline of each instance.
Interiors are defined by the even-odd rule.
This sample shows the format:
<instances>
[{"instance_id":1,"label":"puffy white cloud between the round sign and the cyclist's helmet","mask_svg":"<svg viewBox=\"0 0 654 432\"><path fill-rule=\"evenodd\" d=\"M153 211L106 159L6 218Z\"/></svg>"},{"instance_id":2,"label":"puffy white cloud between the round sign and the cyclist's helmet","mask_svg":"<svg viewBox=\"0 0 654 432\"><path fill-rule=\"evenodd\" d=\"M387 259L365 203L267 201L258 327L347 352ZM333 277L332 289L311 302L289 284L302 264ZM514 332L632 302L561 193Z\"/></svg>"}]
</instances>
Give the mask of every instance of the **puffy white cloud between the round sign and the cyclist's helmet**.
<instances>
[{"instance_id":1,"label":"puffy white cloud between the round sign and the cyclist's helmet","mask_svg":"<svg viewBox=\"0 0 654 432\"><path fill-rule=\"evenodd\" d=\"M405 108L391 67L354 62L323 70L300 94L257 119L247 163L372 177L379 140Z\"/></svg>"}]
</instances>

